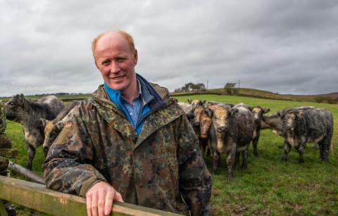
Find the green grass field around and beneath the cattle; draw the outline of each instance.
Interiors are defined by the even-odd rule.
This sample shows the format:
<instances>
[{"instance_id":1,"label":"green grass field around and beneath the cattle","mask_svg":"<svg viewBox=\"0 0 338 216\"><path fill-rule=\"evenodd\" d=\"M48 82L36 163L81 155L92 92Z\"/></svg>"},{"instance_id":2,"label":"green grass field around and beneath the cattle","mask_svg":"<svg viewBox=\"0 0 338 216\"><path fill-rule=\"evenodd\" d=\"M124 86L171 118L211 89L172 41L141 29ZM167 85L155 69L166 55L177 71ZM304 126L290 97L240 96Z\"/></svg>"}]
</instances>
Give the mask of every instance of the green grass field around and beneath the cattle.
<instances>
[{"instance_id":1,"label":"green grass field around and beneath the cattle","mask_svg":"<svg viewBox=\"0 0 338 216\"><path fill-rule=\"evenodd\" d=\"M283 139L270 130L261 132L258 142L260 158L254 158L250 146L247 170L235 170L234 179L226 177L225 156L221 167L213 174L213 192L211 204L213 215L338 215L338 106L337 104L308 103L295 101L276 101L254 99L244 96L177 96L179 101L202 99L227 103L246 103L250 106L270 108L270 113L284 108L297 106L315 106L330 110L334 116L334 136L332 144L334 154L330 152L330 161L322 163L319 150L314 151L308 144L304 154L305 163L299 164L299 154L294 148L289 153L286 163L280 158L284 151ZM25 165L27 151L24 144L22 127L15 122L8 122L6 134L19 150L14 161ZM44 160L42 148L37 150L33 171L42 174ZM211 169L211 158L206 164ZM26 211L24 215L30 213Z\"/></svg>"}]
</instances>

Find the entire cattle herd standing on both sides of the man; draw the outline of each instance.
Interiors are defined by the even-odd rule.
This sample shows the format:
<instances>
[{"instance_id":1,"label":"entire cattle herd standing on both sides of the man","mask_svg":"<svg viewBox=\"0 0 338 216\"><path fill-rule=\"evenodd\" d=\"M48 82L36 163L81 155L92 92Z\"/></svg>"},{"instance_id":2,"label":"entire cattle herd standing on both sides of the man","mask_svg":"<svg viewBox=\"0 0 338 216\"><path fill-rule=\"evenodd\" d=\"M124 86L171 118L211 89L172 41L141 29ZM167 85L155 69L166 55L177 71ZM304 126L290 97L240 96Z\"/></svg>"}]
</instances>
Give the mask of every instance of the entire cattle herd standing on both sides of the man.
<instances>
[{"instance_id":1,"label":"entire cattle herd standing on both sides of the man","mask_svg":"<svg viewBox=\"0 0 338 216\"><path fill-rule=\"evenodd\" d=\"M244 103L232 105L214 101L188 100L178 102L187 115L196 135L199 137L201 153L212 155L213 171L220 166L220 155L226 154L227 177L232 179L234 167L242 169L248 165L249 144L253 144L253 155L258 157L257 144L261 129L272 129L284 137L282 160L293 146L299 152L299 163L304 163L306 143L314 142L320 148L320 159L327 161L333 133L332 114L323 108L303 106L279 110L266 115L270 108L247 106ZM32 169L35 148L49 146L61 132L72 110L80 101L65 106L56 96L44 96L39 101L30 101L23 94L17 94L6 103L8 120L23 125L28 150L27 168Z\"/></svg>"}]
</instances>

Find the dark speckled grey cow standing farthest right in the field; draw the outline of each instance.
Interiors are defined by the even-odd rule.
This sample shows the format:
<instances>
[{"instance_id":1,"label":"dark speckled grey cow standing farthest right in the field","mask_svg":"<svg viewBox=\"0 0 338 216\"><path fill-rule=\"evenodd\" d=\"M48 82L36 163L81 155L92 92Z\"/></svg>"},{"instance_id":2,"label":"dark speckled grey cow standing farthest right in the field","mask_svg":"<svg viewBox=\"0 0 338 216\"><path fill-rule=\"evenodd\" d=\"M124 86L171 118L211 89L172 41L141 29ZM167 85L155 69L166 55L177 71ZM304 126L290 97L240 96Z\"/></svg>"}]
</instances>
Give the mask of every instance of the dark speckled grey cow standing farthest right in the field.
<instances>
[{"instance_id":1,"label":"dark speckled grey cow standing farthest right in the field","mask_svg":"<svg viewBox=\"0 0 338 216\"><path fill-rule=\"evenodd\" d=\"M286 110L278 113L284 129L284 155L287 155L294 146L299 152L299 163L304 163L304 149L307 142L313 141L320 146L320 159L329 159L329 149L333 134L332 114L323 108L307 108Z\"/></svg>"}]
</instances>

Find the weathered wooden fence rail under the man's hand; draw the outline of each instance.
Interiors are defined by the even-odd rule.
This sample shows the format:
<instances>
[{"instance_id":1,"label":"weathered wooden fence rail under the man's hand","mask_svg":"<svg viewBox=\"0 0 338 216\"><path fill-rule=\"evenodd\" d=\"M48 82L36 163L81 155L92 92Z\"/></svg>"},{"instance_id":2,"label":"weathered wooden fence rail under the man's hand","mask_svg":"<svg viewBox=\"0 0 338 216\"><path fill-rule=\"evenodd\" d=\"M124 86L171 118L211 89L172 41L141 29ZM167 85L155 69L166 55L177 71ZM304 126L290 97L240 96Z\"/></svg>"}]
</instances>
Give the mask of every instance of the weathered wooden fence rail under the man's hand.
<instances>
[{"instance_id":1,"label":"weathered wooden fence rail under the man's hand","mask_svg":"<svg viewBox=\"0 0 338 216\"><path fill-rule=\"evenodd\" d=\"M80 196L47 189L43 184L0 176L0 201L10 201L49 215L87 215L86 200ZM1 206L0 206L1 207ZM1 208L0 208L0 215ZM129 203L114 203L111 215L177 214Z\"/></svg>"}]
</instances>

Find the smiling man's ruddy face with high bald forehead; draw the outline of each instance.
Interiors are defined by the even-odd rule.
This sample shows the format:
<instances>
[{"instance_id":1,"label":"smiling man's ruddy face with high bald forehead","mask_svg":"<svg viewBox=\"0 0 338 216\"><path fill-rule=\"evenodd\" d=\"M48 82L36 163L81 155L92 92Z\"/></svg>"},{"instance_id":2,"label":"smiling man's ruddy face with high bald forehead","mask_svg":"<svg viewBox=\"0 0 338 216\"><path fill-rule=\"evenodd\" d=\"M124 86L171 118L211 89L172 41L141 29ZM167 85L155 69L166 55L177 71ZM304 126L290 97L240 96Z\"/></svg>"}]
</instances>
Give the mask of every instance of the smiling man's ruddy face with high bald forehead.
<instances>
[{"instance_id":1,"label":"smiling man's ruddy face with high bald forehead","mask_svg":"<svg viewBox=\"0 0 338 216\"><path fill-rule=\"evenodd\" d=\"M97 42L96 65L104 82L121 94L130 94L137 89L134 66L137 64L137 52L132 53L125 38L117 33L105 34Z\"/></svg>"}]
</instances>

